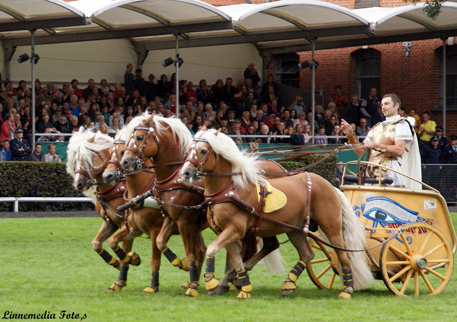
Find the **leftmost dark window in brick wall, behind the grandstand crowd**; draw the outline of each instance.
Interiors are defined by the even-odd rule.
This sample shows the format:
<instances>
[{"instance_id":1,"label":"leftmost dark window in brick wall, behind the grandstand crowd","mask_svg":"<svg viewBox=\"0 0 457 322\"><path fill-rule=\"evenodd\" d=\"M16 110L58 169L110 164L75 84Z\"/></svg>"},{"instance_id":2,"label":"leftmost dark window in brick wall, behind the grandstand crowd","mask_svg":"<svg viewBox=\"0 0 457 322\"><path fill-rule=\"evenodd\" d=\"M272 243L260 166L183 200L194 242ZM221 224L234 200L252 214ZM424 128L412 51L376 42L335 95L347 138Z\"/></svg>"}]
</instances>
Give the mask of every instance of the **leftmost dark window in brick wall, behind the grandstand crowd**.
<instances>
[{"instance_id":1,"label":"leftmost dark window in brick wall, behind the grandstand crowd","mask_svg":"<svg viewBox=\"0 0 457 322\"><path fill-rule=\"evenodd\" d=\"M281 54L275 56L276 66L276 81L285 85L299 88L300 75L298 63L300 56L295 53Z\"/></svg>"}]
</instances>

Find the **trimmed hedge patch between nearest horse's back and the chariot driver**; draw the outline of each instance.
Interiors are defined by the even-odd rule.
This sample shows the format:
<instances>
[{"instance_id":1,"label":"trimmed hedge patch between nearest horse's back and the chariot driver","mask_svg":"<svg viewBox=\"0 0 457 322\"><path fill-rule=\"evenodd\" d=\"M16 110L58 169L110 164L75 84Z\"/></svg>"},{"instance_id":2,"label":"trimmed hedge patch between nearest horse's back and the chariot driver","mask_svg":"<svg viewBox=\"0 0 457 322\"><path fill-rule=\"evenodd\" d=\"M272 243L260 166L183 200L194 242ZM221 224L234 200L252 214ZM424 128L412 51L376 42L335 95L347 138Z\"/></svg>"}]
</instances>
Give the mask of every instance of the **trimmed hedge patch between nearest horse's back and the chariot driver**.
<instances>
[{"instance_id":1,"label":"trimmed hedge patch between nearest horse's back and the chariot driver","mask_svg":"<svg viewBox=\"0 0 457 322\"><path fill-rule=\"evenodd\" d=\"M324 154L312 154L309 156L305 156L299 159L293 159L290 161L281 161L283 167L286 168L287 171L295 170L302 168L303 166L308 166L311 163L319 161L322 159ZM330 156L327 160L320 162L319 164L312 166L308 169L308 172L313 172L318 174L319 176L323 177L331 184L335 184L335 172L336 172L336 162L338 161L338 157L333 155Z\"/></svg>"}]
</instances>

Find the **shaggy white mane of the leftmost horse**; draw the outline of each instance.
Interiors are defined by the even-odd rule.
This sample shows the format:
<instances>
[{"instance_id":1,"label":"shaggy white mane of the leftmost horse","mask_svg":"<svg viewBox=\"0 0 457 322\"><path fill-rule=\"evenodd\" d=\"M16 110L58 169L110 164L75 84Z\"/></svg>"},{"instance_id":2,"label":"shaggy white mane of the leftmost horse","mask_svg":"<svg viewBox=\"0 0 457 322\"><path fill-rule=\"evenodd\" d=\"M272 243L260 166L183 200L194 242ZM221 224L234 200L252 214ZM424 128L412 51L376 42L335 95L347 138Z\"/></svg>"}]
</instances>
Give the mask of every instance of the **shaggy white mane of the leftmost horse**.
<instances>
[{"instance_id":1,"label":"shaggy white mane of the leftmost horse","mask_svg":"<svg viewBox=\"0 0 457 322\"><path fill-rule=\"evenodd\" d=\"M94 141L89 142L92 138ZM67 172L75 177L74 167L79 159L82 160L82 166L87 172L100 171L100 168L95 168L92 165L95 151L109 149L112 147L113 141L110 136L99 132L94 133L91 130L80 129L78 132L74 132L68 143Z\"/></svg>"}]
</instances>

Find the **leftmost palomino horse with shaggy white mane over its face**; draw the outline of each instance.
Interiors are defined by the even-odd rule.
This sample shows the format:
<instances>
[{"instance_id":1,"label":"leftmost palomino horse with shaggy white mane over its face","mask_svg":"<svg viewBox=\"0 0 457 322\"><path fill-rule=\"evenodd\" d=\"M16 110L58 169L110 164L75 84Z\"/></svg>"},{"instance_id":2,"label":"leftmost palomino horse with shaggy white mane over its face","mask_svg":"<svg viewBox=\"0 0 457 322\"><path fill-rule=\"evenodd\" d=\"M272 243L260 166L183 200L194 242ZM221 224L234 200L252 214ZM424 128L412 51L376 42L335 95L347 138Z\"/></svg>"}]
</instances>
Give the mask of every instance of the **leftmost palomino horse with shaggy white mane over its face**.
<instances>
[{"instance_id":1,"label":"leftmost palomino horse with shaggy white mane over its face","mask_svg":"<svg viewBox=\"0 0 457 322\"><path fill-rule=\"evenodd\" d=\"M92 248L106 263L120 270L118 281L110 286L110 290L120 290L117 284L127 280L128 264L139 265L140 259L131 251L133 240L124 241L122 248L115 249L116 253L128 254L122 262L103 249L103 242L125 225L124 216L117 213L117 206L124 203L122 195L126 185L125 182L119 182L115 186L102 184L94 189L90 184L103 181L102 174L108 166L109 149L112 145L113 139L105 134L83 131L74 133L68 145L67 172L74 178L75 189L94 196L93 202L103 223L92 241Z\"/></svg>"}]
</instances>

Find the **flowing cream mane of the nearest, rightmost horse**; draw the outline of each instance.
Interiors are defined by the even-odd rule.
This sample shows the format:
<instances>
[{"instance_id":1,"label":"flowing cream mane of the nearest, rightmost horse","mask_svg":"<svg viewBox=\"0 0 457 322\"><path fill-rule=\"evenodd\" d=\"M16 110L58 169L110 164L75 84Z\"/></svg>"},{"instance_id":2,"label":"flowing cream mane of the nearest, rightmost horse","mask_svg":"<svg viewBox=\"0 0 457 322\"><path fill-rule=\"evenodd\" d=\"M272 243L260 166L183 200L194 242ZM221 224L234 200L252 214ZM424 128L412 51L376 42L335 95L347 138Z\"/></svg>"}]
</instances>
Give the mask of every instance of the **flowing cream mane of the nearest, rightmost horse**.
<instances>
[{"instance_id":1,"label":"flowing cream mane of the nearest, rightmost horse","mask_svg":"<svg viewBox=\"0 0 457 322\"><path fill-rule=\"evenodd\" d=\"M199 131L195 137L201 137L208 141L214 152L223 156L232 165L232 172L242 172L241 176L232 176L236 186L247 188L251 183L257 183L261 180L260 168L257 156L249 154L246 151L240 151L232 138L223 133L214 135L215 129ZM201 136L200 136L201 135Z\"/></svg>"}]
</instances>

